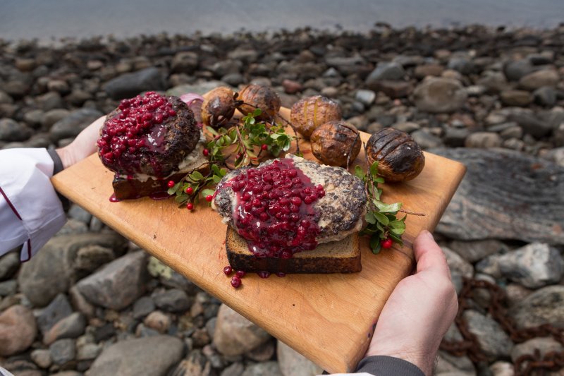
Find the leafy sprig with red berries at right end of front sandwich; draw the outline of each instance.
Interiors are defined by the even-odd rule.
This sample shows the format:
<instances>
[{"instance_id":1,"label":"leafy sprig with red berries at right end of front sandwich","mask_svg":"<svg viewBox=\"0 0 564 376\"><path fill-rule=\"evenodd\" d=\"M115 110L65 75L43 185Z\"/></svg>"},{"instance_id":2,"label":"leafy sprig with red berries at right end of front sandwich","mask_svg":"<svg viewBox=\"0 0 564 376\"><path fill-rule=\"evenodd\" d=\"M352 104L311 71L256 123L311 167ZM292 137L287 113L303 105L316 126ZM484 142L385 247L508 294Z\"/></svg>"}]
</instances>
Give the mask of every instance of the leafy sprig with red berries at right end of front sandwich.
<instances>
[{"instance_id":1,"label":"leafy sprig with red berries at right end of front sandwich","mask_svg":"<svg viewBox=\"0 0 564 376\"><path fill-rule=\"evenodd\" d=\"M405 232L407 214L398 219L402 203L386 204L380 200L382 190L378 188L378 183L384 183L384 178L378 176L378 161L370 166L367 173L364 173L362 167L355 166L355 175L364 182L367 194L367 211L364 217L367 227L360 234L370 237L372 253L379 253L382 248L391 248L393 243L403 245L401 236Z\"/></svg>"}]
</instances>

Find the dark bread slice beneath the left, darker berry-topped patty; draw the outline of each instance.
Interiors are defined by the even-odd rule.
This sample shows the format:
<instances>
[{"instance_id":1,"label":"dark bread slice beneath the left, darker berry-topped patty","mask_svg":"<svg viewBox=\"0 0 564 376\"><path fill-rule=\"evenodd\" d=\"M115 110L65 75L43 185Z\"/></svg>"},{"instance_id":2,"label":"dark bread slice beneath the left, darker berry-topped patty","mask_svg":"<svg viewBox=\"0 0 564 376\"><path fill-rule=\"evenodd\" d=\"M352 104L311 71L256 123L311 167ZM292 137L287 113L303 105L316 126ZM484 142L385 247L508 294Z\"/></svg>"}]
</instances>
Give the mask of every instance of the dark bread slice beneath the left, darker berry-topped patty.
<instances>
[{"instance_id":1,"label":"dark bread slice beneath the left, darker berry-topped patty","mask_svg":"<svg viewBox=\"0 0 564 376\"><path fill-rule=\"evenodd\" d=\"M111 183L114 187L114 195L116 196L116 199L128 200L144 196L151 196L152 198L168 197L168 194L166 193L168 190L168 181L178 183L181 178L193 171L200 171L204 175L209 172L209 161L207 157L204 157L204 154L202 154L203 148L203 143L198 143L195 150L192 150L192 153L190 153L192 158L189 159L189 162L183 164L183 168L176 174L164 179L154 178L151 176L133 176L133 178L116 176L114 181Z\"/></svg>"}]
</instances>

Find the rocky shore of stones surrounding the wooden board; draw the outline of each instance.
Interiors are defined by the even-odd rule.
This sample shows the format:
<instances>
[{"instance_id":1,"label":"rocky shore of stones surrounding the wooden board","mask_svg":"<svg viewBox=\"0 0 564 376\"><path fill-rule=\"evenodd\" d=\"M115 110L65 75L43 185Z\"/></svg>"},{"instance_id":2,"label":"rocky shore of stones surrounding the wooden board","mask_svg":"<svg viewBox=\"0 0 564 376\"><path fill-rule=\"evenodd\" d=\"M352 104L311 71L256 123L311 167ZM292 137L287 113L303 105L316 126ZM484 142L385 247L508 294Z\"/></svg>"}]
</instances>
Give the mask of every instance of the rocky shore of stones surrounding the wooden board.
<instances>
[{"instance_id":1,"label":"rocky shore of stones surrounding the wooden board","mask_svg":"<svg viewBox=\"0 0 564 376\"><path fill-rule=\"evenodd\" d=\"M436 374L513 375L522 354L564 350L546 332L515 335L564 322L564 27L159 35L0 51L0 147L66 145L118 99L218 83L272 85L287 107L321 93L363 131L411 133L468 168L436 236L465 302L447 339L472 346L441 351ZM464 277L507 298L463 292ZM15 375L319 372L76 205L32 261L0 258L0 298L0 364Z\"/></svg>"}]
</instances>

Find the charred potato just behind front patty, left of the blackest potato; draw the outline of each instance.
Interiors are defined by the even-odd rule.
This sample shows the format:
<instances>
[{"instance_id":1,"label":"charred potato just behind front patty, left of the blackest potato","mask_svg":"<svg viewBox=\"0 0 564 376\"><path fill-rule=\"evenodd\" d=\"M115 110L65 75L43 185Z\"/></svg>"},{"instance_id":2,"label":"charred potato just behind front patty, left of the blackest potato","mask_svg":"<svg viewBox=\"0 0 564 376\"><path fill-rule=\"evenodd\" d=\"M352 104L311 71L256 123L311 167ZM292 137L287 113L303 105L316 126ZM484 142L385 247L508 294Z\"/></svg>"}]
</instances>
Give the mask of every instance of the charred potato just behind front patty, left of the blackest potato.
<instances>
[{"instance_id":1,"label":"charred potato just behind front patty, left of the blackest potato","mask_svg":"<svg viewBox=\"0 0 564 376\"><path fill-rule=\"evenodd\" d=\"M346 121L328 121L316 128L311 138L312 153L324 164L346 166L360 153L357 128ZM350 152L350 158L348 154Z\"/></svg>"}]
</instances>

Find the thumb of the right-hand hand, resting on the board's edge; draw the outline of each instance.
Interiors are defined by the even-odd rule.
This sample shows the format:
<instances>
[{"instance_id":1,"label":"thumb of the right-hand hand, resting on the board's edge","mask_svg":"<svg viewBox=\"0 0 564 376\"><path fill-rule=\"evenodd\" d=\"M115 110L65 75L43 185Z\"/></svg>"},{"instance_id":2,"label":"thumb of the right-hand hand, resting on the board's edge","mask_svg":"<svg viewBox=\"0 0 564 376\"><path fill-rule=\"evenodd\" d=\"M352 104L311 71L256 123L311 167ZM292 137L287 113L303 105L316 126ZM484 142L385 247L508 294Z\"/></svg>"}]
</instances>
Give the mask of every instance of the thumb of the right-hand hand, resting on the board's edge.
<instances>
[{"instance_id":1,"label":"thumb of the right-hand hand, resting on the board's edge","mask_svg":"<svg viewBox=\"0 0 564 376\"><path fill-rule=\"evenodd\" d=\"M413 253L417 262L417 273L423 270L436 270L450 279L446 257L429 231L423 230L415 238Z\"/></svg>"}]
</instances>

